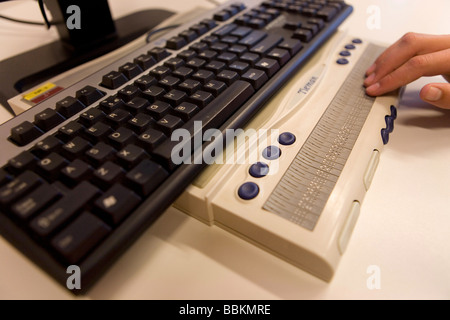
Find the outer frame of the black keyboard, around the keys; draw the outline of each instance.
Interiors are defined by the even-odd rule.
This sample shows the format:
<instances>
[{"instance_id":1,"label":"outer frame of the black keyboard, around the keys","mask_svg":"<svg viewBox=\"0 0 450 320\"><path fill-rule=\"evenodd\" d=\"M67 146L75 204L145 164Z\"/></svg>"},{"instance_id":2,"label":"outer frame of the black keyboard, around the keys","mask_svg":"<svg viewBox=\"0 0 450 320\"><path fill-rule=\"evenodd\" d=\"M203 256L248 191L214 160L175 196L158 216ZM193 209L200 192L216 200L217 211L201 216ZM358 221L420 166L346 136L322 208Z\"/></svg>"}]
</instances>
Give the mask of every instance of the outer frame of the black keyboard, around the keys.
<instances>
[{"instance_id":1,"label":"outer frame of the black keyboard, around the keys","mask_svg":"<svg viewBox=\"0 0 450 320\"><path fill-rule=\"evenodd\" d=\"M140 54L146 53L153 47L164 47L166 40L173 36L178 35L180 32L186 30L191 25L199 23L204 19L211 19L215 12L221 11L236 1L230 1L218 6L211 11L200 15L197 19L192 20L188 24L184 24L171 32L166 33L163 37L151 42L139 50L136 50L124 57L118 59L114 63L108 65L105 68L97 70L92 75L85 79L65 88L58 92L51 98L43 101L42 103L34 106L33 108L23 112L17 117L7 121L0 126L0 135L2 137L9 137L11 128L21 124L23 121L34 121L34 115L43 111L44 109L51 107L54 108L56 103L66 96L75 96L76 91L85 87L86 85L96 85L97 88L104 91L106 95L103 99L110 95L116 94L121 87L128 84L132 84L135 78L130 79L127 83L122 85L118 89L110 90L104 87L100 87L98 84L101 82L101 77L107 74L111 70L117 70L119 66L124 65L127 62L132 61ZM208 36L221 26L231 23L237 16L245 13L247 10L261 4L262 1L250 0L246 1L245 5L247 9L238 15L232 17L230 20L224 22L217 22L217 26L211 31L199 37L192 43L200 41L203 37ZM330 21L325 22L325 27L317 33L313 40L309 43L303 44L303 49L300 50L294 57L291 58L281 69L270 78L260 89L257 90L254 96L252 96L233 116L231 116L220 128L220 131L224 132L226 129L238 129L242 128L257 112L258 110L278 91L279 88L285 84L285 82L296 72L299 72L300 68L311 58L315 52L335 33L339 25L352 13L353 7L346 4L344 8ZM192 44L191 43L191 44ZM189 44L189 45L191 45ZM189 46L188 45L188 46ZM180 50L172 52L172 56L163 59L158 62L152 68L163 65L167 59L176 56L179 52L185 50L186 47ZM139 77L139 76L138 76ZM97 104L91 105L88 108L95 107ZM6 141L6 146L3 145L3 152L0 154L0 165L4 166L8 160L22 151L30 149L34 144L47 136L50 136L57 132L58 128L66 123L77 119L81 113L86 111L84 109L80 113L67 119L65 122L58 125L56 128L46 132L32 143L19 147L10 141ZM6 140L6 138L5 138ZM219 141L204 144L203 147L214 147L215 143ZM193 179L202 172L206 167L206 164L195 164L193 160L192 164L183 164L179 166L169 178L155 191L150 197L143 201L143 203L133 211L130 216L121 223L98 247L92 251L88 257L79 264L81 269L81 289L71 290L72 293L79 295L85 294L95 284L95 282L106 272L106 270L137 240L140 235L152 225L152 223L178 198L178 196L191 184ZM27 258L32 260L35 264L45 270L51 275L58 283L66 286L67 278L70 274L67 273L67 269L61 265L47 250L40 247L37 242L18 225L12 222L6 215L0 214L0 234L19 249Z\"/></svg>"}]
</instances>

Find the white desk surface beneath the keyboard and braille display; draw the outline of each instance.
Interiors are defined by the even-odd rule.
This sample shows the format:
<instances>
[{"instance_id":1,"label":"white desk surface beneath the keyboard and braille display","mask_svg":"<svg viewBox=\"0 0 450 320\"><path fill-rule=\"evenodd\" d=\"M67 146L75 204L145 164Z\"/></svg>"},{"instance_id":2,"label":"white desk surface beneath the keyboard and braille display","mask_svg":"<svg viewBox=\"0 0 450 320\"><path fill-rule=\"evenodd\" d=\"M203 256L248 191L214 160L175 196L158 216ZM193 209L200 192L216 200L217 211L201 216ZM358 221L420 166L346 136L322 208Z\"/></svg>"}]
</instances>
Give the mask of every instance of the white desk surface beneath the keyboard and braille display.
<instances>
[{"instance_id":1,"label":"white desk surface beneath the keyboard and braille display","mask_svg":"<svg viewBox=\"0 0 450 320\"><path fill-rule=\"evenodd\" d=\"M450 30L447 0L347 2L354 13L345 26L368 40L389 44L408 31ZM2 3L0 12L13 15L20 8L20 17L39 20L30 3ZM114 16L158 6L143 0L110 3ZM200 0L164 4L173 11L211 7ZM377 22L371 20L377 10L380 24L371 26L379 29L369 28L368 21ZM56 37L54 30L0 21L0 59ZM421 102L418 92L428 81L407 86L395 132L331 283L170 208L84 298L449 299L450 111ZM0 113L0 120L7 117ZM2 238L0 257L0 299L74 298ZM379 268L379 289L367 286L370 266Z\"/></svg>"}]
</instances>

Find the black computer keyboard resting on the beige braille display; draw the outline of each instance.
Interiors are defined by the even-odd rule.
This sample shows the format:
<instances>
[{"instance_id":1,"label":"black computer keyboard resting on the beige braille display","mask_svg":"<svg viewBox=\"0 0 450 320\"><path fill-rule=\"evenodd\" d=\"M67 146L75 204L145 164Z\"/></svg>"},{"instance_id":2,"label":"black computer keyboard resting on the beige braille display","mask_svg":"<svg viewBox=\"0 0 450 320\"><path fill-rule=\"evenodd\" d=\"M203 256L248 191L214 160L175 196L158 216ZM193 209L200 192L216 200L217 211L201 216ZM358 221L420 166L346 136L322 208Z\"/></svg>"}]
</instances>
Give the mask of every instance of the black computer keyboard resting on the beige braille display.
<instances>
[{"instance_id":1,"label":"black computer keyboard resting on the beige braille display","mask_svg":"<svg viewBox=\"0 0 450 320\"><path fill-rule=\"evenodd\" d=\"M242 127L351 12L227 3L3 124L1 234L86 292L205 167L173 161L172 132Z\"/></svg>"}]
</instances>

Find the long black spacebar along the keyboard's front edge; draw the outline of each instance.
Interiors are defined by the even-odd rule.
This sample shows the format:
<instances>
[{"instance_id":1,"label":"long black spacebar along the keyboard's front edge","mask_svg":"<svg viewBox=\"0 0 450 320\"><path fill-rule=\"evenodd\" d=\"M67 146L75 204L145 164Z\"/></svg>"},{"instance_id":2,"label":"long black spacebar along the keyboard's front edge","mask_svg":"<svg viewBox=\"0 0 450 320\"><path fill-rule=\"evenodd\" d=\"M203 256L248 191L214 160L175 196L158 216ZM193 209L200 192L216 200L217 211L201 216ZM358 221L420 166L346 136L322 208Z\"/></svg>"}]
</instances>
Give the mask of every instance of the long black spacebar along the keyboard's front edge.
<instances>
[{"instance_id":1,"label":"long black spacebar along the keyboard's front edge","mask_svg":"<svg viewBox=\"0 0 450 320\"><path fill-rule=\"evenodd\" d=\"M172 134L172 137L177 138L177 140L165 141L154 150L153 155L167 169L170 171L174 170L181 164L182 161L180 162L180 159L188 159L191 157L194 151L194 137L203 137L202 133L206 130L219 128L254 92L255 90L250 83L241 80L234 82L216 99L211 101L200 113L193 117L189 123L184 125L182 127L185 130L184 132L178 131L183 134L182 137L175 137ZM174 133L176 134L177 130ZM186 138L187 136L189 136L189 139ZM180 150L189 150L191 153L181 154L180 156ZM172 152L174 152L174 157L172 157Z\"/></svg>"}]
</instances>

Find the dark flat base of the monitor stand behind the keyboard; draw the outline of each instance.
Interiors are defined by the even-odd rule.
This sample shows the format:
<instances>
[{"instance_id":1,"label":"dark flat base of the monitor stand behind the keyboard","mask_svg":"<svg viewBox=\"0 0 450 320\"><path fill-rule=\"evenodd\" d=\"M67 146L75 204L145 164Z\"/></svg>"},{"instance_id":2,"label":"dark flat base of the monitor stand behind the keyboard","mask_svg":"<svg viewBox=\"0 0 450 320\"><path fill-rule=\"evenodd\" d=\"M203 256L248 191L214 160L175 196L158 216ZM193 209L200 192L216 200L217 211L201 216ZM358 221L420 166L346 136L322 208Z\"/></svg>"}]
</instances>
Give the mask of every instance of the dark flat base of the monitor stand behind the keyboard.
<instances>
[{"instance_id":1,"label":"dark flat base of the monitor stand behind the keyboard","mask_svg":"<svg viewBox=\"0 0 450 320\"><path fill-rule=\"evenodd\" d=\"M137 39L174 13L151 9L114 21L117 37L95 48L71 49L54 41L37 49L0 61L0 105L14 115L8 100L67 70L107 54Z\"/></svg>"}]
</instances>

